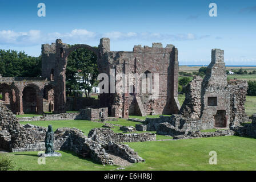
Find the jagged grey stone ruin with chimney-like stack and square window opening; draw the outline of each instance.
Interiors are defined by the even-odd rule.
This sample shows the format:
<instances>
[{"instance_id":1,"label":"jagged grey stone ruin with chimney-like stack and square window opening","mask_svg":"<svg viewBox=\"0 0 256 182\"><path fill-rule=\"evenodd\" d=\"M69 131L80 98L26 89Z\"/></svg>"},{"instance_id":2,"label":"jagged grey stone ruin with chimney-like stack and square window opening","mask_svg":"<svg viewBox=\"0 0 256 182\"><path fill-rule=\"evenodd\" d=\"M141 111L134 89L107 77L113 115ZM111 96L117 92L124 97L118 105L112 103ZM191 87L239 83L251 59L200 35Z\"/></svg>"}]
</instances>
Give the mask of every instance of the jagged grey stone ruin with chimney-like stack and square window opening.
<instances>
[{"instance_id":1,"label":"jagged grey stone ruin with chimney-like stack and square window opening","mask_svg":"<svg viewBox=\"0 0 256 182\"><path fill-rule=\"evenodd\" d=\"M246 81L227 82L224 52L212 50L212 60L206 69L205 78L195 76L186 87L186 98L179 114L170 117L147 118L137 130L166 133L173 128L162 123L169 123L178 130L205 130L215 127L240 126L247 122L245 101L248 84ZM159 127L161 126L161 127Z\"/></svg>"}]
</instances>

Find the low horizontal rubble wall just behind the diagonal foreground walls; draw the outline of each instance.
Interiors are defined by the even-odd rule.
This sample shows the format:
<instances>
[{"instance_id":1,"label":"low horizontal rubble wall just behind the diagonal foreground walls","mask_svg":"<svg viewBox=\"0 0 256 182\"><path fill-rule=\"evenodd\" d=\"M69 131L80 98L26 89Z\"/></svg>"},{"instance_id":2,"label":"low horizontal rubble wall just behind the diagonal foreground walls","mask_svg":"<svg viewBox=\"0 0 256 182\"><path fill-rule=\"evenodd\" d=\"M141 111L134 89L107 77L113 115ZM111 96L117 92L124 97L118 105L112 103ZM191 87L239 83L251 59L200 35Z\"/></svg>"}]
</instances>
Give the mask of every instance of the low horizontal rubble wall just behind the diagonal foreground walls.
<instances>
[{"instance_id":1,"label":"low horizontal rubble wall just behind the diagonal foreground walls","mask_svg":"<svg viewBox=\"0 0 256 182\"><path fill-rule=\"evenodd\" d=\"M132 133L132 134L122 134L114 133L110 129L95 128L90 131L88 137L91 137L96 142L146 142L156 140L156 135L152 133Z\"/></svg>"}]
</instances>

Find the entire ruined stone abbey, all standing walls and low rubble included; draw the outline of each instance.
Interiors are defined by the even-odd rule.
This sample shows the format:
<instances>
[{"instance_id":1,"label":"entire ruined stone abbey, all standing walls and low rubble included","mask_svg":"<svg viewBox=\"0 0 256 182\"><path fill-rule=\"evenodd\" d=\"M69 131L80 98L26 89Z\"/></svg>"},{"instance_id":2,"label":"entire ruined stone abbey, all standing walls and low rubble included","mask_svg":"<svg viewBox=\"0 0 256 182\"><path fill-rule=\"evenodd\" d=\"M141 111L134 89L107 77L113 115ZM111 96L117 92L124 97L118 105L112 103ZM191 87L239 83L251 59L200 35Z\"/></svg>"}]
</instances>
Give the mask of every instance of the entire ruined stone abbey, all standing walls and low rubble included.
<instances>
[{"instance_id":1,"label":"entire ruined stone abbey, all standing walls and low rubble included","mask_svg":"<svg viewBox=\"0 0 256 182\"><path fill-rule=\"evenodd\" d=\"M77 106L79 113L66 113L67 57L78 48L89 49L97 55L99 73L105 73L105 79L109 79L110 84L100 88L107 92L99 95L98 104L85 108L86 102L82 102ZM125 82L133 92L111 92L111 85L119 84L111 78L118 73L145 73L146 77L150 73L158 74L157 97L153 97L154 94L148 90L146 93L135 92L136 80ZM19 121L91 120L105 125L92 129L87 136L75 128L59 128L54 133L56 149L74 151L101 164L114 164L110 154L122 156L131 163L143 162L137 152L122 142L152 141L156 140L156 135L114 133L110 129L114 124L105 122L129 118L129 114L170 116L160 115L159 118L145 120L129 118L138 124L136 127L120 126L120 130L125 133L156 131L159 135L173 136L173 139L226 135L256 137L255 114L251 124L241 125L249 121L244 106L247 87L246 81L227 81L224 51L212 49L206 76L195 76L186 86L186 98L180 106L178 49L173 45L163 48L161 43L153 43L152 47L135 46L132 52L115 52L110 51L108 38L102 38L98 48L85 44L69 46L57 39L56 43L42 45L42 77L0 77L0 92L3 96L0 102L0 148L11 152L45 150L43 140L47 129L30 124L21 125ZM42 114L46 111L54 111L55 114L33 118L17 118L14 115ZM219 128L225 130L201 132Z\"/></svg>"}]
</instances>

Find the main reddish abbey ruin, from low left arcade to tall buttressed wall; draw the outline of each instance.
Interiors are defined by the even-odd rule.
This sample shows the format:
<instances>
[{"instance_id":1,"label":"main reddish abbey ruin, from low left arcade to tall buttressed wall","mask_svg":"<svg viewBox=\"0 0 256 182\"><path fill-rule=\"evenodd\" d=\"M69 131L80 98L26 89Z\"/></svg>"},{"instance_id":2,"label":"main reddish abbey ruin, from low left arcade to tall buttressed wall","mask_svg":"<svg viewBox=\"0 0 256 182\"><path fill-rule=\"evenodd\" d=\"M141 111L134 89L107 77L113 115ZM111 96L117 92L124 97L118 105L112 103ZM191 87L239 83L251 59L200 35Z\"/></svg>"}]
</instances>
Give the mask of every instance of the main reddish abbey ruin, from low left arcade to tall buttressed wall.
<instances>
[{"instance_id":1,"label":"main reddish abbey ruin, from low left arcade to tall buttressed wall","mask_svg":"<svg viewBox=\"0 0 256 182\"><path fill-rule=\"evenodd\" d=\"M108 107L110 117L178 113L178 49L171 44L163 48L161 43L153 43L152 47L134 46L132 52L116 52L110 51L108 38L102 38L98 48L86 44L69 46L60 39L51 45L43 44L42 77L0 77L0 92L5 105L15 114L66 113L67 57L78 48L93 51L97 55L99 73L106 73L109 79L118 73L159 75L157 98L150 97L151 93L137 92L100 94L97 107ZM111 73L111 69L115 72ZM127 86L135 90L134 82L127 82ZM76 108L84 109L83 105L79 107Z\"/></svg>"}]
</instances>

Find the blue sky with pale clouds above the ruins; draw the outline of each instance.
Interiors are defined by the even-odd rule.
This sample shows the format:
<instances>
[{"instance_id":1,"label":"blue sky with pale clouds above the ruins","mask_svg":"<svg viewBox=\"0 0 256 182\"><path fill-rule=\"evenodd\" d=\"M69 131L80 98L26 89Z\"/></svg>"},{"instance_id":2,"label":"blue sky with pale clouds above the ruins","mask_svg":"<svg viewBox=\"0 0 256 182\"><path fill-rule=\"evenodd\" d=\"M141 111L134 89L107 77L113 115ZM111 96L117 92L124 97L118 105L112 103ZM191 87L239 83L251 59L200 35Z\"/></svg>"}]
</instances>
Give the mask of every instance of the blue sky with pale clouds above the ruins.
<instances>
[{"instance_id":1,"label":"blue sky with pale clouds above the ruins","mask_svg":"<svg viewBox=\"0 0 256 182\"><path fill-rule=\"evenodd\" d=\"M38 17L38 3L46 16ZM216 3L218 16L209 16ZM153 42L174 44L179 64L206 65L211 49L225 51L226 65L256 65L256 1L3 1L0 48L38 56L41 44L61 38L98 46L110 38L111 51L132 51Z\"/></svg>"}]
</instances>

